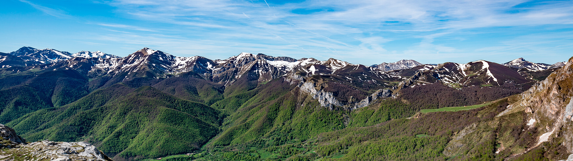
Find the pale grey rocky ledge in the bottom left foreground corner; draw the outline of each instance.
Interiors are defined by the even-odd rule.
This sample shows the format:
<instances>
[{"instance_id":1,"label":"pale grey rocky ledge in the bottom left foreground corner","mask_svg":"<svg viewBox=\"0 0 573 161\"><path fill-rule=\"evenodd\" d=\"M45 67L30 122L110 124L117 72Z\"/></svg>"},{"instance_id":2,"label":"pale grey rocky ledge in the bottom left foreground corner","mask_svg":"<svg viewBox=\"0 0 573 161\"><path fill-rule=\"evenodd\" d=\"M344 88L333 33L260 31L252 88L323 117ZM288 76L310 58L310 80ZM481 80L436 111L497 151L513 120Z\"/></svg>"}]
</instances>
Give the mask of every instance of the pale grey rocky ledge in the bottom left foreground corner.
<instances>
[{"instance_id":1,"label":"pale grey rocky ledge in the bottom left foreground corner","mask_svg":"<svg viewBox=\"0 0 573 161\"><path fill-rule=\"evenodd\" d=\"M14 129L0 124L0 160L108 160L103 152L86 142L52 142L49 140L27 143Z\"/></svg>"}]
</instances>

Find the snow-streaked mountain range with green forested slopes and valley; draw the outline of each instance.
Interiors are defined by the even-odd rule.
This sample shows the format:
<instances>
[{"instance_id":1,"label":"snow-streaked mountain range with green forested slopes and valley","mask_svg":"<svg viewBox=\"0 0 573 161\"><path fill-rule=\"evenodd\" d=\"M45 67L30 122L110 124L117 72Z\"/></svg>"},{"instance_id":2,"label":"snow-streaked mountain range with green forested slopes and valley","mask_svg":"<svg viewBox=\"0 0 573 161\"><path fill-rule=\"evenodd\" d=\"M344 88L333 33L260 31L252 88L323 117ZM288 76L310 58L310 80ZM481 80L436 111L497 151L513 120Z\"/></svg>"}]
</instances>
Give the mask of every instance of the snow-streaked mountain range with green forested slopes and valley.
<instances>
[{"instance_id":1,"label":"snow-streaked mountain range with green forested slopes and valley","mask_svg":"<svg viewBox=\"0 0 573 161\"><path fill-rule=\"evenodd\" d=\"M512 108L538 97L525 93L555 84L546 78L555 80L571 60L365 66L251 53L210 60L149 48L126 57L30 47L0 54L0 123L33 142L90 142L113 160L192 152L191 158L211 160L489 160L573 153L570 145L555 144L567 140L548 144L561 148L529 148L546 129L513 131L524 129L529 117L539 120L541 115L527 112L541 109L533 102ZM561 82L555 88L573 87ZM484 102L469 111L421 112ZM509 113L516 117L506 118ZM543 124L567 116L545 117ZM568 128L567 123L559 122ZM469 135L476 131L472 127L486 124L499 129ZM424 146L387 148L412 142Z\"/></svg>"}]
</instances>

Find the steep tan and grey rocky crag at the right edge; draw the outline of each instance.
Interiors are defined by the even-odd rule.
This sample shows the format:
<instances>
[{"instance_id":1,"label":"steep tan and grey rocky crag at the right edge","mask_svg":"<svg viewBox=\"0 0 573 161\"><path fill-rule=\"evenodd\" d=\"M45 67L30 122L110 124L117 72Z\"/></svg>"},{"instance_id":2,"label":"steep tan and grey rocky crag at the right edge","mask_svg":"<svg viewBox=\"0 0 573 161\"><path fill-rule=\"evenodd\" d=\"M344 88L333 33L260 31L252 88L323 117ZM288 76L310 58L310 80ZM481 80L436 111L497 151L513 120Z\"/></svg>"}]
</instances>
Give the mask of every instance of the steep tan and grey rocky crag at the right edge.
<instances>
[{"instance_id":1,"label":"steep tan and grey rocky crag at the right edge","mask_svg":"<svg viewBox=\"0 0 573 161\"><path fill-rule=\"evenodd\" d=\"M531 119L539 120L540 132L550 138L564 139L563 145L573 153L573 57L565 66L551 73L528 91L521 94L520 101L513 104L511 112L524 110ZM506 114L507 115L507 114Z\"/></svg>"}]
</instances>

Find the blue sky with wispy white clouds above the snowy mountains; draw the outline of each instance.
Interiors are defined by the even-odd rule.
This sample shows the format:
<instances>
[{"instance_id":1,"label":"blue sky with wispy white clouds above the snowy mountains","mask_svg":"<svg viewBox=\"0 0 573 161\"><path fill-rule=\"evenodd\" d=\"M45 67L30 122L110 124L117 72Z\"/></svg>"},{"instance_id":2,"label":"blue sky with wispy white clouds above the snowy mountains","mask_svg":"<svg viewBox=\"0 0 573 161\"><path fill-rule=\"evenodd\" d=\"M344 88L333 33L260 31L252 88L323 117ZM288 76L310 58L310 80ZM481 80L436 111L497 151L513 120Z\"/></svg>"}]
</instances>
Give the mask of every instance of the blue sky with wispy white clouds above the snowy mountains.
<instances>
[{"instance_id":1,"label":"blue sky with wispy white clouds above the snowy mountains","mask_svg":"<svg viewBox=\"0 0 573 161\"><path fill-rule=\"evenodd\" d=\"M5 53L30 46L123 57L147 47L363 65L573 56L573 1L2 0L0 22Z\"/></svg>"}]
</instances>

